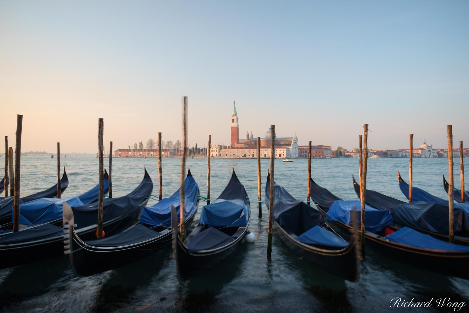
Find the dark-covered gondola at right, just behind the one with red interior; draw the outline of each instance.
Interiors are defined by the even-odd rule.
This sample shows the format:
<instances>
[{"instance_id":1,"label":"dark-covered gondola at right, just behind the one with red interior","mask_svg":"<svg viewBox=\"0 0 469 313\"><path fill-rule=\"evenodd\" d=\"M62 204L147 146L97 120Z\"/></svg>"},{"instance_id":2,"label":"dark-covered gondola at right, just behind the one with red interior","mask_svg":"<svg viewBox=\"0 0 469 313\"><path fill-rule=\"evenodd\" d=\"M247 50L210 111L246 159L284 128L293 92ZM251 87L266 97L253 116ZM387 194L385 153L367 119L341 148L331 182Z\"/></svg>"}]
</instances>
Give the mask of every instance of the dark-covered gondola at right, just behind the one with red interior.
<instances>
[{"instance_id":1,"label":"dark-covered gondola at right, just behind the one with red interior","mask_svg":"<svg viewBox=\"0 0 469 313\"><path fill-rule=\"evenodd\" d=\"M360 198L360 185L353 178L354 189ZM414 190L414 188L412 188ZM448 205L417 201L407 203L372 190L365 191L365 203L393 214L394 226L410 227L440 240L449 241ZM464 204L454 206L454 242L469 245L469 210Z\"/></svg>"}]
</instances>

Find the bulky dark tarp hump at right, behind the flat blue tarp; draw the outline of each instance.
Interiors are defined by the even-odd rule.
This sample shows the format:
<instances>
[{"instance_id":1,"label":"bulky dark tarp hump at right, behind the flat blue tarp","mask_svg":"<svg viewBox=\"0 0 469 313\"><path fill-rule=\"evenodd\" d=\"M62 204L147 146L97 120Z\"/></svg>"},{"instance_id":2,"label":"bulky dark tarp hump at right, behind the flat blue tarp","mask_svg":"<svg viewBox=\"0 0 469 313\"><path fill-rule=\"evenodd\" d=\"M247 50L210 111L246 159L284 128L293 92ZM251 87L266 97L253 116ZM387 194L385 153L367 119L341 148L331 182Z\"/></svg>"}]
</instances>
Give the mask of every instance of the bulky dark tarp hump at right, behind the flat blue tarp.
<instances>
[{"instance_id":1,"label":"bulky dark tarp hump at right, behind the flat blue tarp","mask_svg":"<svg viewBox=\"0 0 469 313\"><path fill-rule=\"evenodd\" d=\"M434 233L449 233L448 206L439 203L411 202L398 206L393 212L396 225L424 229ZM469 237L469 213L454 207L454 233Z\"/></svg>"}]
</instances>

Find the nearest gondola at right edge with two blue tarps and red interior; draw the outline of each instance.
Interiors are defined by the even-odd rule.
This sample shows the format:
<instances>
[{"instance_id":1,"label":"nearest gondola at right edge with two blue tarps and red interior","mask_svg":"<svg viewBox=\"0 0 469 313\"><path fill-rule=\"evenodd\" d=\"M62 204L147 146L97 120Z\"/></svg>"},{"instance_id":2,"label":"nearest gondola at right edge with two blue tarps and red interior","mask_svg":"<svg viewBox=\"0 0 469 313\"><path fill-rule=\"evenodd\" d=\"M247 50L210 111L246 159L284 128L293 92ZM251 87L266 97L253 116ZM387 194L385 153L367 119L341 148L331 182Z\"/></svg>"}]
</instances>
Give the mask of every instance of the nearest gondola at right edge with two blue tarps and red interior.
<instances>
[{"instance_id":1,"label":"nearest gondola at right edge with two blue tarps and red interior","mask_svg":"<svg viewBox=\"0 0 469 313\"><path fill-rule=\"evenodd\" d=\"M311 199L314 202L316 202L315 196L311 192ZM320 199L320 201L323 200ZM325 212L318 203L316 203L316 206L319 210ZM358 211L357 216L359 218L360 201L336 200L328 208L326 219L335 221L343 229L352 229L349 221L351 219L350 212L353 210ZM389 215L391 212L365 206L366 242L371 244L374 249L389 258L416 267L426 268L444 275L469 279L469 267L467 267L469 261L468 246L450 244L408 227L393 229L390 225L386 226L384 216L379 217L379 214L369 214L369 212L381 212ZM370 226L376 221L378 221L377 226L382 227L371 228ZM379 225L380 223L381 225Z\"/></svg>"}]
</instances>

